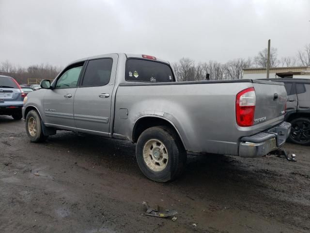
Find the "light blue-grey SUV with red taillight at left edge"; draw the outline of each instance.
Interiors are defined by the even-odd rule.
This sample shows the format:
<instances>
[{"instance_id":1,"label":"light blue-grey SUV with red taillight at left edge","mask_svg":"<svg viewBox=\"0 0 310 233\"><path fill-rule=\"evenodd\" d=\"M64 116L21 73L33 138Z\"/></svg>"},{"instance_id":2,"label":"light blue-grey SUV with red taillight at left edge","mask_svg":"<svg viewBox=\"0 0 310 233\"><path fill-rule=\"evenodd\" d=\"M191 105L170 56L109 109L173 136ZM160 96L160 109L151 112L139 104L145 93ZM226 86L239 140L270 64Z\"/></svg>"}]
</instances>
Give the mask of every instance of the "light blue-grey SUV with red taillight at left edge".
<instances>
[{"instance_id":1,"label":"light blue-grey SUV with red taillight at left edge","mask_svg":"<svg viewBox=\"0 0 310 233\"><path fill-rule=\"evenodd\" d=\"M24 97L26 94L15 79L0 75L0 115L21 119Z\"/></svg>"}]
</instances>

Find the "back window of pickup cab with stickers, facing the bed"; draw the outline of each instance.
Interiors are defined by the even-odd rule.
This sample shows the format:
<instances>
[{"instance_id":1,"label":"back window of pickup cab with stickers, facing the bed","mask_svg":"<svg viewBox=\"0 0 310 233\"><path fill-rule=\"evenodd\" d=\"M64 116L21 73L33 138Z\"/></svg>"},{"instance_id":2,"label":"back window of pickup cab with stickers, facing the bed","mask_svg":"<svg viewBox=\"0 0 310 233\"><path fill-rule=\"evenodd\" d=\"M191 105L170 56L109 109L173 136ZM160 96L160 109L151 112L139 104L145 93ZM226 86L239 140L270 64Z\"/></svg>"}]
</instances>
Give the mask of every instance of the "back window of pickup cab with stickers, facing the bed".
<instances>
[{"instance_id":1,"label":"back window of pickup cab with stickers, facing the bed","mask_svg":"<svg viewBox=\"0 0 310 233\"><path fill-rule=\"evenodd\" d=\"M167 83L174 82L171 67L165 63L128 59L125 69L125 80L131 82Z\"/></svg>"}]
</instances>

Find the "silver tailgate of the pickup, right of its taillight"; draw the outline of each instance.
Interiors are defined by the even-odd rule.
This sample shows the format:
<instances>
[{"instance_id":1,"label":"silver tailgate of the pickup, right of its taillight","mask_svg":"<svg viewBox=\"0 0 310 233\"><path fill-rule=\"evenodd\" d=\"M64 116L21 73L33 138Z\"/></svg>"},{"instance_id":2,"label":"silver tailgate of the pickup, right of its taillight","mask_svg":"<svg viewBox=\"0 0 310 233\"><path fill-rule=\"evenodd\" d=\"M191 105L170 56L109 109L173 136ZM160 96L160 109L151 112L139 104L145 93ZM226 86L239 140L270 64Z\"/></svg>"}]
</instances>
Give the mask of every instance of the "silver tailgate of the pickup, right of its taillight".
<instances>
[{"instance_id":1,"label":"silver tailgate of the pickup, right of its taillight","mask_svg":"<svg viewBox=\"0 0 310 233\"><path fill-rule=\"evenodd\" d=\"M284 83L253 80L253 86L256 94L254 125L284 116L287 97Z\"/></svg>"}]
</instances>

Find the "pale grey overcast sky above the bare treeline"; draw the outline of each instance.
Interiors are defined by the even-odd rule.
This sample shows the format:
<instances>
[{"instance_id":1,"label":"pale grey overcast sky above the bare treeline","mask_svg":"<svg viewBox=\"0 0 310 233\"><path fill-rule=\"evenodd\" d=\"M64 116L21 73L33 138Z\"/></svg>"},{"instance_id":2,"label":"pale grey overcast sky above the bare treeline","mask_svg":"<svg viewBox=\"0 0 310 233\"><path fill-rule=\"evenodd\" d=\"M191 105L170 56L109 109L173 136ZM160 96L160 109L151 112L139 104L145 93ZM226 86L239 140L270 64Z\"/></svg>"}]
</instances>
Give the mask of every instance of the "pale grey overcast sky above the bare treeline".
<instances>
[{"instance_id":1,"label":"pale grey overcast sky above the bare treeline","mask_svg":"<svg viewBox=\"0 0 310 233\"><path fill-rule=\"evenodd\" d=\"M128 52L227 62L310 43L310 0L0 0L0 62Z\"/></svg>"}]
</instances>

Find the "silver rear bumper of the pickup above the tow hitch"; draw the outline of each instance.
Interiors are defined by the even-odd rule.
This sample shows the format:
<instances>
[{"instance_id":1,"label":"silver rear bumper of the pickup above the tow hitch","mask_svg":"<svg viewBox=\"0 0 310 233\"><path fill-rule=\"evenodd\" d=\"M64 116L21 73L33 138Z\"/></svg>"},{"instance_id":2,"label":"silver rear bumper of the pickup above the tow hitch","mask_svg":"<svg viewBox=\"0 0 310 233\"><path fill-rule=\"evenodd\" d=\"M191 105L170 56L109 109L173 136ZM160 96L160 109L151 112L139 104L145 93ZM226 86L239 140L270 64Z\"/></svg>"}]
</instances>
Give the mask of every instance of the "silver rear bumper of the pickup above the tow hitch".
<instances>
[{"instance_id":1,"label":"silver rear bumper of the pickup above the tow hitch","mask_svg":"<svg viewBox=\"0 0 310 233\"><path fill-rule=\"evenodd\" d=\"M239 144L239 156L248 158L261 157L270 151L278 150L283 146L290 133L291 124L283 121L263 132L242 137Z\"/></svg>"}]
</instances>

